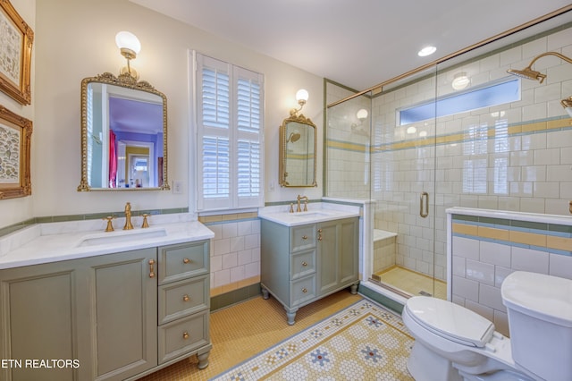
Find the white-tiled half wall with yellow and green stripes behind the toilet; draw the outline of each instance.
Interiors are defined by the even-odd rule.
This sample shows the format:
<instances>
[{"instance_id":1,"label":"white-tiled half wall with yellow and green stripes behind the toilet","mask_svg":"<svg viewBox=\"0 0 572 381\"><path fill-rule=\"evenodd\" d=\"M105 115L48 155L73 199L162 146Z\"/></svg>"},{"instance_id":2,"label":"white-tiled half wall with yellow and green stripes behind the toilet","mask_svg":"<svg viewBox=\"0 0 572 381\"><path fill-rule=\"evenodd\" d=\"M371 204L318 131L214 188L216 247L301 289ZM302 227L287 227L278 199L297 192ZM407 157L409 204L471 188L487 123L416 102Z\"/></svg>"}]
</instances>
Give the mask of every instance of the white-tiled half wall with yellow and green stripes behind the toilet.
<instances>
[{"instance_id":1,"label":"white-tiled half wall with yellow and green stripes behind the toilet","mask_svg":"<svg viewBox=\"0 0 572 381\"><path fill-rule=\"evenodd\" d=\"M513 271L572 279L572 218L453 207L447 210L452 301L509 334L501 284Z\"/></svg>"}]
</instances>

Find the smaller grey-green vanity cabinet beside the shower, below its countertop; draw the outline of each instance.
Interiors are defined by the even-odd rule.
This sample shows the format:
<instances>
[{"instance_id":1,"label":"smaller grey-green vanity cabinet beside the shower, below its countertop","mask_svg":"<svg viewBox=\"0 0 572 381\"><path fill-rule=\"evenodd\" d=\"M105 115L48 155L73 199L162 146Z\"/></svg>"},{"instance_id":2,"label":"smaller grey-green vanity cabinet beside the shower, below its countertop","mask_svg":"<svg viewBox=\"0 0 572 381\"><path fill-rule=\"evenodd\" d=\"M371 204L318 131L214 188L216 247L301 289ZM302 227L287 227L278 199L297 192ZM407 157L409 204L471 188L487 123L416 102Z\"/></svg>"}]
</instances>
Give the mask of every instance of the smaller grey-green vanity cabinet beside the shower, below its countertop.
<instances>
[{"instance_id":1,"label":"smaller grey-green vanity cabinet beside the shower, below its countertop","mask_svg":"<svg viewBox=\"0 0 572 381\"><path fill-rule=\"evenodd\" d=\"M358 217L286 226L261 220L261 286L294 324L298 309L358 284Z\"/></svg>"}]
</instances>

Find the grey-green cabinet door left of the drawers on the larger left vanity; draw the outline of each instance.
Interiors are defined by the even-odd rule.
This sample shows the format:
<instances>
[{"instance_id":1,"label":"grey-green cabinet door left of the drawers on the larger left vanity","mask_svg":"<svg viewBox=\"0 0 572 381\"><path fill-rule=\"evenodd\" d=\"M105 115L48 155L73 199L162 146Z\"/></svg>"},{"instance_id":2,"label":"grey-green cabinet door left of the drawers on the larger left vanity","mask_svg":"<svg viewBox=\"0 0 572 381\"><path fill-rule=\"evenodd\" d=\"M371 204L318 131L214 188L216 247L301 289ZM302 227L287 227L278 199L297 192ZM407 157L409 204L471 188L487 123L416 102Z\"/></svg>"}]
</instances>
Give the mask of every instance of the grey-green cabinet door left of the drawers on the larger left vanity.
<instances>
[{"instance_id":1,"label":"grey-green cabinet door left of the drawers on the larger left vanity","mask_svg":"<svg viewBox=\"0 0 572 381\"><path fill-rule=\"evenodd\" d=\"M92 379L121 380L157 365L156 259L151 248L82 262L92 303Z\"/></svg>"}]
</instances>

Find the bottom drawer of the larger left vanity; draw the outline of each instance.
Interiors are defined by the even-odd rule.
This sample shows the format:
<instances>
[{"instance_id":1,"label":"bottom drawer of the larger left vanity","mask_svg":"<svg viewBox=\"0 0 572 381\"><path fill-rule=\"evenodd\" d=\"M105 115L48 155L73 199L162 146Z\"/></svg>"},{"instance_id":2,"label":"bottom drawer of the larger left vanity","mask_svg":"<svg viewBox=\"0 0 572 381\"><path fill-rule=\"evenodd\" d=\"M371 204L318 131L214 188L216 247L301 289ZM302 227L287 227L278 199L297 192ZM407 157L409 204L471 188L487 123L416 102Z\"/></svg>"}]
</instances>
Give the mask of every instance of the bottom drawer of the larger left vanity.
<instances>
[{"instance_id":1,"label":"bottom drawer of the larger left vanity","mask_svg":"<svg viewBox=\"0 0 572 381\"><path fill-rule=\"evenodd\" d=\"M159 326L159 363L162 364L189 351L208 345L209 311L198 312Z\"/></svg>"}]
</instances>

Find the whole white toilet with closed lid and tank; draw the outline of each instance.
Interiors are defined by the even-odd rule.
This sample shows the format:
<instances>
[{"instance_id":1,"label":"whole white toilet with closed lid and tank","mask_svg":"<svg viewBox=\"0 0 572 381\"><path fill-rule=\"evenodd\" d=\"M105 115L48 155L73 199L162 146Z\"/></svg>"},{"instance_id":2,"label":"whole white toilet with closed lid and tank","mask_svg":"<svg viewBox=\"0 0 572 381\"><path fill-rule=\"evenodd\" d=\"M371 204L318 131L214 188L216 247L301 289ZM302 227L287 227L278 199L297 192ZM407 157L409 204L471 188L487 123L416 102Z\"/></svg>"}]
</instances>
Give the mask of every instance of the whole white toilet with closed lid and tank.
<instances>
[{"instance_id":1,"label":"whole white toilet with closed lid and tank","mask_svg":"<svg viewBox=\"0 0 572 381\"><path fill-rule=\"evenodd\" d=\"M402 318L416 342L416 381L572 380L572 280L517 271L501 285L510 339L450 301L409 298Z\"/></svg>"}]
</instances>

